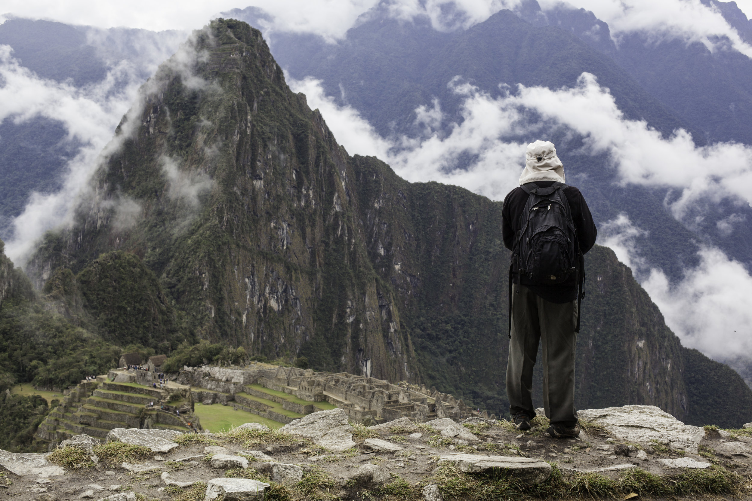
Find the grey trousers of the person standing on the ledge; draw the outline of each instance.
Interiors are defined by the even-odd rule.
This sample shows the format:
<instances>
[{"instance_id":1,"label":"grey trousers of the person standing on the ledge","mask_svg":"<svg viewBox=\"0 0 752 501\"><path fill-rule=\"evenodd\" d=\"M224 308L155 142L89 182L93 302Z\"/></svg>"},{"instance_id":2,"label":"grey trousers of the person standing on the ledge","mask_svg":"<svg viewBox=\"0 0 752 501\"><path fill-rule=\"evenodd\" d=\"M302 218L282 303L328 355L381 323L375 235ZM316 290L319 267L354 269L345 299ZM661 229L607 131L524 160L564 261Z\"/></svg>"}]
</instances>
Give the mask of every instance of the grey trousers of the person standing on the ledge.
<instances>
[{"instance_id":1,"label":"grey trousers of the person standing on the ledge","mask_svg":"<svg viewBox=\"0 0 752 501\"><path fill-rule=\"evenodd\" d=\"M524 285L512 288L512 330L507 363L507 396L512 416L532 408L532 367L543 343L543 406L552 423L573 426L577 301L551 303Z\"/></svg>"}]
</instances>

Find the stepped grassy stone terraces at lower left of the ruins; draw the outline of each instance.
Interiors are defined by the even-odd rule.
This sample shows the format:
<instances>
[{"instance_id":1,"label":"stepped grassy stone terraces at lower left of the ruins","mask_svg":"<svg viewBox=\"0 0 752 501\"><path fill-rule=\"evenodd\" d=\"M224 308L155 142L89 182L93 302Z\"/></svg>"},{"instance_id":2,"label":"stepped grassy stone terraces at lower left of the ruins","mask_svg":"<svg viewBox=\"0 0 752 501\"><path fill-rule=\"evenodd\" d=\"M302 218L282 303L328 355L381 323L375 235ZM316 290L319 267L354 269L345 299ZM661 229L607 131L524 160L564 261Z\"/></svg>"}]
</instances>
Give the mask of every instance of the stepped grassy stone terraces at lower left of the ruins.
<instances>
[{"instance_id":1,"label":"stepped grassy stone terraces at lower left of the ruins","mask_svg":"<svg viewBox=\"0 0 752 501\"><path fill-rule=\"evenodd\" d=\"M168 402L171 391L174 388L160 390L98 376L96 382L81 382L66 391L62 403L39 425L37 436L60 442L80 433L103 439L114 428L201 430L199 418L190 412L190 390L177 405Z\"/></svg>"}]
</instances>

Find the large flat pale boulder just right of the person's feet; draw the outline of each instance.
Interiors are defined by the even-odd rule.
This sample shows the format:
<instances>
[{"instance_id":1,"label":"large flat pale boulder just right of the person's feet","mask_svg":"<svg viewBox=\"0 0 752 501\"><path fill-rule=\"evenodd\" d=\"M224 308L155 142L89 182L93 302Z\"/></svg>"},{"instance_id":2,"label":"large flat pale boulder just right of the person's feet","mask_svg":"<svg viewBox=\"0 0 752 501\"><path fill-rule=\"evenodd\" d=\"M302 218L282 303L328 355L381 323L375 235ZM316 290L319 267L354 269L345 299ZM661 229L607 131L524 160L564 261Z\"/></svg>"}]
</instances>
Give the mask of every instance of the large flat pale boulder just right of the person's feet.
<instances>
[{"instance_id":1,"label":"large flat pale boulder just right of the person's feet","mask_svg":"<svg viewBox=\"0 0 752 501\"><path fill-rule=\"evenodd\" d=\"M692 454L697 454L697 445L705 437L701 427L684 424L656 406L586 409L578 411L578 415L585 421L600 424L618 439L643 443L666 439L669 447Z\"/></svg>"}]
</instances>

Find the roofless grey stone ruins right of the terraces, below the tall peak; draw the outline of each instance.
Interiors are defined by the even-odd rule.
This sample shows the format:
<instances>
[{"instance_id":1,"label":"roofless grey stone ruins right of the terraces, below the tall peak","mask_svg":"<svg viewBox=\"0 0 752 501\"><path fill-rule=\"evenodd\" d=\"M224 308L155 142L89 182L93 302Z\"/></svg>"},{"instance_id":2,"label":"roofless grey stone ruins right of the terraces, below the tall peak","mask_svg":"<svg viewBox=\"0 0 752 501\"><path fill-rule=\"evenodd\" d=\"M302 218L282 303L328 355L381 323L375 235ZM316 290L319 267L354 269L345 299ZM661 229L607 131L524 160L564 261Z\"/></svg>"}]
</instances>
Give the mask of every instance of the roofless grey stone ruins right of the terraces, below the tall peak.
<instances>
[{"instance_id":1,"label":"roofless grey stone ruins right of the terraces, below the tall peak","mask_svg":"<svg viewBox=\"0 0 752 501\"><path fill-rule=\"evenodd\" d=\"M407 417L425 422L436 418L496 418L487 411L470 409L462 400L425 385L407 382L392 384L383 379L355 376L350 373L326 373L296 367L275 367L269 364L250 364L247 367L183 367L177 382L192 387L196 402L233 402L235 406L283 423L292 421L271 409L262 409L256 397L270 398L250 385L261 385L271 391L284 392L305 403L289 399L274 399L283 408L305 415L314 412L316 402L327 402L347 412L358 423L380 424ZM198 389L201 388L201 389Z\"/></svg>"}]
</instances>

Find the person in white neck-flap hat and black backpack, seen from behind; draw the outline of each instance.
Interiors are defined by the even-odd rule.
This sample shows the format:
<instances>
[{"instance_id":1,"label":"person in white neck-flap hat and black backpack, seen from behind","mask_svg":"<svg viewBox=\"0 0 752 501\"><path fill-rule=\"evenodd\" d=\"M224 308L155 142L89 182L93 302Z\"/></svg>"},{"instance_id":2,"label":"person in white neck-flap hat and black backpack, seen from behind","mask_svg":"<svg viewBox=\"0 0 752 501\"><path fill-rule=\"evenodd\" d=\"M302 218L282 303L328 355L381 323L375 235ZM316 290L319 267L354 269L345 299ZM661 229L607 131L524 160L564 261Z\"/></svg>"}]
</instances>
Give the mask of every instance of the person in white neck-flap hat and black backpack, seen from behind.
<instances>
[{"instance_id":1,"label":"person in white neck-flap hat and black backpack, seen from behind","mask_svg":"<svg viewBox=\"0 0 752 501\"><path fill-rule=\"evenodd\" d=\"M502 208L509 267L509 413L529 430L532 368L543 344L543 406L554 438L580 434L575 410L575 346L584 291L584 254L596 225L580 190L564 184L564 167L548 141L527 146L520 186ZM537 231L536 231L537 230Z\"/></svg>"}]
</instances>

